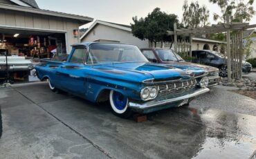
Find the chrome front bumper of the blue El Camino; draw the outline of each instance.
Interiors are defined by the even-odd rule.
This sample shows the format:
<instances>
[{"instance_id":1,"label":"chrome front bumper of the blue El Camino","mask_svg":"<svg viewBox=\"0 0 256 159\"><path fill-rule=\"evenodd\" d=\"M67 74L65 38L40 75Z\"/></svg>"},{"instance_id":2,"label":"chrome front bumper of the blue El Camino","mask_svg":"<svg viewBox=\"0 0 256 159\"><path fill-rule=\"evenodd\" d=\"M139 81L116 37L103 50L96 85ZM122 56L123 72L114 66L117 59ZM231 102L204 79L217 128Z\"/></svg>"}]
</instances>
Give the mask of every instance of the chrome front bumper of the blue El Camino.
<instances>
[{"instance_id":1,"label":"chrome front bumper of the blue El Camino","mask_svg":"<svg viewBox=\"0 0 256 159\"><path fill-rule=\"evenodd\" d=\"M158 100L158 101L152 100L152 101L149 101L149 102L145 102L143 104L138 104L138 103L135 103L135 102L129 102L129 107L131 109L134 109L135 111L145 111L147 109L154 109L155 107L163 106L163 105L166 105L166 104L172 104L172 103L175 103L175 102L182 102L183 100L187 100L187 99L190 99L192 97L196 97L197 95L207 93L208 91L210 91L209 88L199 88L198 90L196 90L193 93L190 93L188 95L183 95L181 97L175 97L175 98L171 98L171 99L167 99L167 100Z\"/></svg>"}]
</instances>

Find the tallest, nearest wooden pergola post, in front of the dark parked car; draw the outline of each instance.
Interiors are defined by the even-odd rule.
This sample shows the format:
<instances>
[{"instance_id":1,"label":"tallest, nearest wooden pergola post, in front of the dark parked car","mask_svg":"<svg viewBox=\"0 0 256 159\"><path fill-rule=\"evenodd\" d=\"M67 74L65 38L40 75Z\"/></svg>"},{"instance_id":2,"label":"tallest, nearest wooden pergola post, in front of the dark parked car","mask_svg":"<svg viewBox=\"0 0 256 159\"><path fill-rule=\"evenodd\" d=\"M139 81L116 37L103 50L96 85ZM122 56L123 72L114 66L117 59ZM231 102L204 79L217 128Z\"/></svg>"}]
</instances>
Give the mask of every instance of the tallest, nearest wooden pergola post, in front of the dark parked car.
<instances>
[{"instance_id":1,"label":"tallest, nearest wooden pergola post, in front of the dark parked car","mask_svg":"<svg viewBox=\"0 0 256 159\"><path fill-rule=\"evenodd\" d=\"M230 15L226 16L226 23L230 25ZM231 61L230 61L230 30L227 30L227 56L228 56L228 82L231 82Z\"/></svg>"}]
</instances>

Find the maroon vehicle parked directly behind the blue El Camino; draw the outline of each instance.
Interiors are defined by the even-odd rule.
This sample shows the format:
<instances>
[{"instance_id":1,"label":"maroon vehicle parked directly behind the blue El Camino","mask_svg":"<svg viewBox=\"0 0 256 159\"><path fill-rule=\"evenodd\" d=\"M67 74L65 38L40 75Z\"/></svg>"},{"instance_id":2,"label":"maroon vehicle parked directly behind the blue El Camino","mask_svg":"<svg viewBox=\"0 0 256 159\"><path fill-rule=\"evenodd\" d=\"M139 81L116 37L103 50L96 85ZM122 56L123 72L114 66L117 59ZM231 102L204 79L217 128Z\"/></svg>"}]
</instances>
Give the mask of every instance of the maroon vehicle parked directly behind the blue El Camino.
<instances>
[{"instance_id":1,"label":"maroon vehicle parked directly behind the blue El Camino","mask_svg":"<svg viewBox=\"0 0 256 159\"><path fill-rule=\"evenodd\" d=\"M174 50L166 48L142 48L140 49L147 57L150 62L167 64L168 66L173 66L176 68L181 68L183 70L198 70L203 69L208 73L207 77L209 79L209 86L216 86L219 84L219 69L212 66L206 66L203 64L194 64L192 62L185 62Z\"/></svg>"}]
</instances>

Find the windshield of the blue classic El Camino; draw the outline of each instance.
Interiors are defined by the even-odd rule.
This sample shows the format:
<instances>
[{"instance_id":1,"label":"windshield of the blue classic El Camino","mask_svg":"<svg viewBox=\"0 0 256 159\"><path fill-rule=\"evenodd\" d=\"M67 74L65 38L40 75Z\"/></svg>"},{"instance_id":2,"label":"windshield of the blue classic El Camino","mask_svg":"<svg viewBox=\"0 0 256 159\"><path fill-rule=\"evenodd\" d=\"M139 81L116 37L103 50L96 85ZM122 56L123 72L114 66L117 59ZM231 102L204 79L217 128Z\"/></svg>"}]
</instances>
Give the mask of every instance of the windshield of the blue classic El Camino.
<instances>
[{"instance_id":1,"label":"windshield of the blue classic El Camino","mask_svg":"<svg viewBox=\"0 0 256 159\"><path fill-rule=\"evenodd\" d=\"M137 46L127 44L91 44L87 64L148 62Z\"/></svg>"}]
</instances>

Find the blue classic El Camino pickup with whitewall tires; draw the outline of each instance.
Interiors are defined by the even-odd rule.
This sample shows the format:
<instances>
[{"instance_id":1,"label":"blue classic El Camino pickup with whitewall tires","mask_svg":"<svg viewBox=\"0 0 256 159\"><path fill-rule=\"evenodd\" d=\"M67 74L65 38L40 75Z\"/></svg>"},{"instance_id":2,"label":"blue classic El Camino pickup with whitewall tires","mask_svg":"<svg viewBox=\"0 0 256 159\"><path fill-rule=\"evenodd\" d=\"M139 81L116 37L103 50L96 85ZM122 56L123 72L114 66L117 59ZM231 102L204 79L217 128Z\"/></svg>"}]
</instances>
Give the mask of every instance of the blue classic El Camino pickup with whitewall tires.
<instances>
[{"instance_id":1,"label":"blue classic El Camino pickup with whitewall tires","mask_svg":"<svg viewBox=\"0 0 256 159\"><path fill-rule=\"evenodd\" d=\"M182 106L209 91L203 70L150 63L129 44L75 44L66 62L44 60L35 69L39 79L48 79L52 91L60 89L91 102L109 100L113 113L122 118L132 111Z\"/></svg>"}]
</instances>

